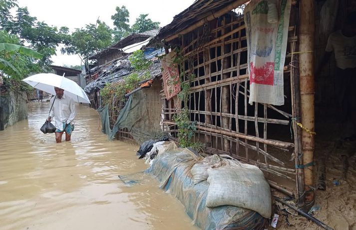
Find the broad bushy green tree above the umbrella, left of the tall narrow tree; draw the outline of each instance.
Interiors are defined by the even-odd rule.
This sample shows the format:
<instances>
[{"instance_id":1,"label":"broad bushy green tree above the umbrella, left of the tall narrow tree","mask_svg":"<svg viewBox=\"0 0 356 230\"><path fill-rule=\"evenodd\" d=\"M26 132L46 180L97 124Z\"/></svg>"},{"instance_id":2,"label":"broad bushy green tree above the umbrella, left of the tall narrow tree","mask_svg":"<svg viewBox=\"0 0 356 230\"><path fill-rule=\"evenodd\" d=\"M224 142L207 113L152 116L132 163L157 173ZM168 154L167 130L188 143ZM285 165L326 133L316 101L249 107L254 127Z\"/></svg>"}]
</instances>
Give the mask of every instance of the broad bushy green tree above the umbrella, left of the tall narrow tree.
<instances>
[{"instance_id":1,"label":"broad bushy green tree above the umbrella, left of the tall narrow tree","mask_svg":"<svg viewBox=\"0 0 356 230\"><path fill-rule=\"evenodd\" d=\"M61 52L63 54L79 54L87 67L88 58L107 48L111 42L111 29L105 22L97 20L96 25L87 24L85 28L76 28L71 34L68 46L62 48Z\"/></svg>"}]
</instances>

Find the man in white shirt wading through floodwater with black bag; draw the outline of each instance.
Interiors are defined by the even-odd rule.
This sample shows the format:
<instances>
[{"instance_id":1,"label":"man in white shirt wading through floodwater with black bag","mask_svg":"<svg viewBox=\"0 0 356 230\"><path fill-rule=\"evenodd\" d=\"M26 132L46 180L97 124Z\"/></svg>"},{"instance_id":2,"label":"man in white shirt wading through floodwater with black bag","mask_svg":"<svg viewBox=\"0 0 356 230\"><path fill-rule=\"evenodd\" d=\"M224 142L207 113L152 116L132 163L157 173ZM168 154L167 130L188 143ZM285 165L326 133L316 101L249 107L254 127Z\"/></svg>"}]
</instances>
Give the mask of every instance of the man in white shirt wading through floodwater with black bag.
<instances>
[{"instance_id":1,"label":"man in white shirt wading through floodwater with black bag","mask_svg":"<svg viewBox=\"0 0 356 230\"><path fill-rule=\"evenodd\" d=\"M75 103L73 99L65 97L64 90L54 87L56 97L52 97L50 104L53 104L52 110L47 118L51 121L55 117L55 141L62 142L62 135L65 132L65 141L70 141L70 135L74 130L74 117L76 115Z\"/></svg>"}]
</instances>

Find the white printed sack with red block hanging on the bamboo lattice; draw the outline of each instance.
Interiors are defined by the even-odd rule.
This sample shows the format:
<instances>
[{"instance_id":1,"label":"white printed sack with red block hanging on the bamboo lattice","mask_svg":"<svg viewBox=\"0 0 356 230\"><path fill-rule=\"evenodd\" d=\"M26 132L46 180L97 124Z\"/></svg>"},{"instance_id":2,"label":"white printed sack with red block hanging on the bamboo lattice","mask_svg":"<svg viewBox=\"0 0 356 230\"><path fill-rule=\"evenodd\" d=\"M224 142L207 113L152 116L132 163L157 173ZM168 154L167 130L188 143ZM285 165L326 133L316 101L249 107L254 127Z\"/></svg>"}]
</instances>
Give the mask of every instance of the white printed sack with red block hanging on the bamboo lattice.
<instances>
[{"instance_id":1,"label":"white printed sack with red block hanging on the bamboo lattice","mask_svg":"<svg viewBox=\"0 0 356 230\"><path fill-rule=\"evenodd\" d=\"M251 0L245 7L251 105L284 105L283 68L290 12L291 0Z\"/></svg>"}]
</instances>

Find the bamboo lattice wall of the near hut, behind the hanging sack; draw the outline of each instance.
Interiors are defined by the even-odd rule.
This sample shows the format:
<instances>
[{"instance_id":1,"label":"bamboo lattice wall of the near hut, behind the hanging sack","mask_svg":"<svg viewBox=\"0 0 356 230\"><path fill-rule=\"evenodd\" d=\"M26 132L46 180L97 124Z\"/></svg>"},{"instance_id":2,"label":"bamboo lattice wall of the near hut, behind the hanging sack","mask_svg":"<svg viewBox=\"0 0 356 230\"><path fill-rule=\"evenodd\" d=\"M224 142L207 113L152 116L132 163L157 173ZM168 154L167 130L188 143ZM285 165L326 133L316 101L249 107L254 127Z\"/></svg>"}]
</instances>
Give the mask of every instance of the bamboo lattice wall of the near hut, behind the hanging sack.
<instances>
[{"instance_id":1,"label":"bamboo lattice wall of the near hut, behind the hanging sack","mask_svg":"<svg viewBox=\"0 0 356 230\"><path fill-rule=\"evenodd\" d=\"M301 164L300 138L296 132L292 139L290 131L298 131L292 117L299 113L296 85L299 86L295 82L299 80L297 55L294 55L296 26L290 26L289 30L285 106L248 104L246 31L243 17L234 12L171 42L186 58L181 64L184 71L181 80L190 82L190 99L184 105L177 96L168 101L163 91L161 96L163 123L173 137L178 128L172 117L181 108L187 108L190 120L197 121L194 141L205 143L205 153L228 154L257 165L265 172L271 187L296 196L298 192L303 193L304 184L303 172L295 168L295 164Z\"/></svg>"}]
</instances>

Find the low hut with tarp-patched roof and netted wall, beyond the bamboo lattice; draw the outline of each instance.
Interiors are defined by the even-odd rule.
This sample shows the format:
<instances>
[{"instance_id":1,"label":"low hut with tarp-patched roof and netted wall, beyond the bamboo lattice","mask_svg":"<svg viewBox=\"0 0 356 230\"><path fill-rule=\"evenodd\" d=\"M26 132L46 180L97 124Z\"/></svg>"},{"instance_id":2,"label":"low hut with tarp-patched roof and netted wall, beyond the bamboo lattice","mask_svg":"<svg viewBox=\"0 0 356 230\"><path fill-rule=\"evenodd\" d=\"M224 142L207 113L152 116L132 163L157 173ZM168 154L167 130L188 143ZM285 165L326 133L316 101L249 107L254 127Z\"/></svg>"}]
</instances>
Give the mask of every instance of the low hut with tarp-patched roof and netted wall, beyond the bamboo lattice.
<instances>
[{"instance_id":1,"label":"low hut with tarp-patched roof and netted wall, beyond the bamboo lattice","mask_svg":"<svg viewBox=\"0 0 356 230\"><path fill-rule=\"evenodd\" d=\"M151 30L123 38L113 45L120 48L108 49L100 56L96 56L98 63L103 63L103 59L106 63L92 68L90 74L86 76L86 79L90 80L84 90L89 95L92 107L99 109L103 131L111 139L142 143L147 139L162 135L160 129L162 73L160 61L156 57L164 53L164 50L154 45L147 45L149 38L157 32L158 30ZM131 39L138 37L140 37L138 40ZM107 84L123 84L124 78L132 73L137 73L139 77L146 74L145 71L135 71L129 61L130 54L140 49L145 59L152 61L152 65L147 70L150 78L139 82L137 88L132 92L127 92L123 99L115 100L111 105L104 106L101 90ZM113 57L115 59L111 60Z\"/></svg>"}]
</instances>

